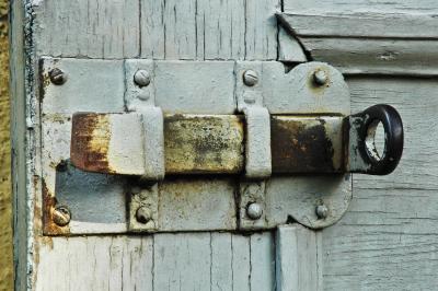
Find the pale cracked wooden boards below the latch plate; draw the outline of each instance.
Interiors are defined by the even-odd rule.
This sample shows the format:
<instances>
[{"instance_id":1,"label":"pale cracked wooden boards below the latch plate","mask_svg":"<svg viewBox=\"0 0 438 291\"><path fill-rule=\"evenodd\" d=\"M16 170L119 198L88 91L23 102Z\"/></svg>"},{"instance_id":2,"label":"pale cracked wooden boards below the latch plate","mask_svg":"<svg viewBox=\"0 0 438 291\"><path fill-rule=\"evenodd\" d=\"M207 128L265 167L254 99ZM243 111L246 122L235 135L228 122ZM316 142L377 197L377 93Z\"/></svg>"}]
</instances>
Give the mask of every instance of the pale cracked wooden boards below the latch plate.
<instances>
[{"instance_id":1,"label":"pale cracked wooden boards below the latch plate","mask_svg":"<svg viewBox=\"0 0 438 291\"><path fill-rule=\"evenodd\" d=\"M36 290L44 291L266 291L275 284L270 233L57 237L42 242L38 253Z\"/></svg>"}]
</instances>

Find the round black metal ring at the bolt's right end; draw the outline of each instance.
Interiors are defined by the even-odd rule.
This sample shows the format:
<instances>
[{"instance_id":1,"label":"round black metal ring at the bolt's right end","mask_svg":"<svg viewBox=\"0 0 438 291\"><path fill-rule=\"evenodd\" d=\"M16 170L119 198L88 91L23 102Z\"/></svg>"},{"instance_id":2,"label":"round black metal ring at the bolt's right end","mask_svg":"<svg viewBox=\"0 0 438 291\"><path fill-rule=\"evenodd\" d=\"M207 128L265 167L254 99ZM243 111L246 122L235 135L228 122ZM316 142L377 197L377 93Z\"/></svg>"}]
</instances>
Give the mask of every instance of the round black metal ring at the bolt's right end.
<instances>
[{"instance_id":1,"label":"round black metal ring at the bolt's right end","mask_svg":"<svg viewBox=\"0 0 438 291\"><path fill-rule=\"evenodd\" d=\"M364 118L359 129L359 152L364 161L370 166L367 174L387 175L397 166L403 153L403 123L394 107L387 104L373 105L362 113L355 115ZM384 128L384 151L380 159L376 159L367 149L366 139L370 127L382 123Z\"/></svg>"}]
</instances>

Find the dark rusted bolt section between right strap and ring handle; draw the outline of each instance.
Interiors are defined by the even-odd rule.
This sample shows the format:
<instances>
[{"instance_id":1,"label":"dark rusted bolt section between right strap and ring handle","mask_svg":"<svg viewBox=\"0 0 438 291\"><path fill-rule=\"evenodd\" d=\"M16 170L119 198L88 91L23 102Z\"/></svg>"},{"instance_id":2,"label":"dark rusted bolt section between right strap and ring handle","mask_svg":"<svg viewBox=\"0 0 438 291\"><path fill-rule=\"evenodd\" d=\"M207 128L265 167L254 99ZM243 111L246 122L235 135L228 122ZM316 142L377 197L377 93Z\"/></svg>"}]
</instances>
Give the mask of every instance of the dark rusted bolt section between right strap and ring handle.
<instances>
[{"instance_id":1,"label":"dark rusted bolt section between right strap and ring handle","mask_svg":"<svg viewBox=\"0 0 438 291\"><path fill-rule=\"evenodd\" d=\"M273 172L343 172L343 117L273 116Z\"/></svg>"}]
</instances>

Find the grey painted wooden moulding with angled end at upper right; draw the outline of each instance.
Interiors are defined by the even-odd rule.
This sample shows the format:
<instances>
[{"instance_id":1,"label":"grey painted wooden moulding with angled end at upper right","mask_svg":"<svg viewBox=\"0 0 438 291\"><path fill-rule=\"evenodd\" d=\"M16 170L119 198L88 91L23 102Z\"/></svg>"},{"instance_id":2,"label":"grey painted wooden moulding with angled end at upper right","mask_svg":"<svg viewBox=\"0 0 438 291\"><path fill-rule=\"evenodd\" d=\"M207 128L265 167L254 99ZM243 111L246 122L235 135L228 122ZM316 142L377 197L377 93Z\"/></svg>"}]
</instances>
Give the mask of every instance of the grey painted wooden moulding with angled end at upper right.
<instances>
[{"instance_id":1,"label":"grey painted wooden moulding with angled end at upper right","mask_svg":"<svg viewBox=\"0 0 438 291\"><path fill-rule=\"evenodd\" d=\"M430 1L286 0L284 10L284 25L309 57L344 73L438 74L438 9Z\"/></svg>"}]
</instances>

